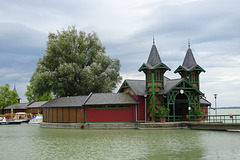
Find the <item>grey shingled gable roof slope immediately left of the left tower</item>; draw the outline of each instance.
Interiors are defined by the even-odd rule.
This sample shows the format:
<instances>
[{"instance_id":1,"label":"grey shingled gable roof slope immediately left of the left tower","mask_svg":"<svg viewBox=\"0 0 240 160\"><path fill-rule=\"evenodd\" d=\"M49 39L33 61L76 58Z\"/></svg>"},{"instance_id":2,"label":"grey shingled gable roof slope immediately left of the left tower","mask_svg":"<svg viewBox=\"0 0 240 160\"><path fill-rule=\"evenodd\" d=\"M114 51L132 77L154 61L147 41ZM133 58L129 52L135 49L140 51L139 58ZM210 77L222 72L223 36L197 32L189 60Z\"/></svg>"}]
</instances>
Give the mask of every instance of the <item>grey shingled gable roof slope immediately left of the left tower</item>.
<instances>
[{"instance_id":1,"label":"grey shingled gable roof slope immediately left of the left tower","mask_svg":"<svg viewBox=\"0 0 240 160\"><path fill-rule=\"evenodd\" d=\"M147 94L145 92L146 89L146 81L145 80L134 80L134 79L126 79L127 83L130 85L134 93L138 96L144 96Z\"/></svg>"}]
</instances>

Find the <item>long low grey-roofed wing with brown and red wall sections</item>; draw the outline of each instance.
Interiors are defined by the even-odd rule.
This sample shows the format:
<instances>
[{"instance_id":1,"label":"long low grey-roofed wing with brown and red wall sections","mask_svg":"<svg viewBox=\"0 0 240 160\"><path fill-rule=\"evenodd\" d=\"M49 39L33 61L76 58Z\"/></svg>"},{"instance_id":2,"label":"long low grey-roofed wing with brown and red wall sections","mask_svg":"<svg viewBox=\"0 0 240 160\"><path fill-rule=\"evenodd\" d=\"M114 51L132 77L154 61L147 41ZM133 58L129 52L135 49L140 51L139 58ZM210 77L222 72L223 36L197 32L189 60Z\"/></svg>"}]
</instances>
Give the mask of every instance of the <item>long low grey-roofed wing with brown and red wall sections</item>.
<instances>
[{"instance_id":1,"label":"long low grey-roofed wing with brown and red wall sections","mask_svg":"<svg viewBox=\"0 0 240 160\"><path fill-rule=\"evenodd\" d=\"M43 122L136 122L137 104L128 93L90 93L60 97L42 105Z\"/></svg>"}]
</instances>

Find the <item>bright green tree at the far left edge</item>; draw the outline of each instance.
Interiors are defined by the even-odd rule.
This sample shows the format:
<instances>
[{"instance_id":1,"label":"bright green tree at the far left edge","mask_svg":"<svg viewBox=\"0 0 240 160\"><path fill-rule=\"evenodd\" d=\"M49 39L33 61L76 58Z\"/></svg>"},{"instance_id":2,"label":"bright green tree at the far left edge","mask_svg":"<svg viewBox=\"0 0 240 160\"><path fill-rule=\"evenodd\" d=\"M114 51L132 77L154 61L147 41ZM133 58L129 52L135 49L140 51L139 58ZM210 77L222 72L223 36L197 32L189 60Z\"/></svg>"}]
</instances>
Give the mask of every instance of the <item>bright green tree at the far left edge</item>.
<instances>
[{"instance_id":1,"label":"bright green tree at the far left edge","mask_svg":"<svg viewBox=\"0 0 240 160\"><path fill-rule=\"evenodd\" d=\"M9 84L0 86L0 108L10 106L18 103L18 94L14 91L9 90Z\"/></svg>"}]
</instances>

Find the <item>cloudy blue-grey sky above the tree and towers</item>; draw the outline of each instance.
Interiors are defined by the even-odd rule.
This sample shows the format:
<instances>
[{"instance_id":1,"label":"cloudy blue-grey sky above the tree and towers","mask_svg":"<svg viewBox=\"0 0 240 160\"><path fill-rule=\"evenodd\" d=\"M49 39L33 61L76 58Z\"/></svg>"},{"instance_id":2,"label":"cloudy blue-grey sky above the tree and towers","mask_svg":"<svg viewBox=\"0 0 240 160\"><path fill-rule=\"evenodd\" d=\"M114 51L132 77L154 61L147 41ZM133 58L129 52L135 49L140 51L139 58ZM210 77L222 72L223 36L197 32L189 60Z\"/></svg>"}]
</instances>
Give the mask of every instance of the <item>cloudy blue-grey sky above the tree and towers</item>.
<instances>
[{"instance_id":1,"label":"cloudy blue-grey sky above the tree and towers","mask_svg":"<svg viewBox=\"0 0 240 160\"><path fill-rule=\"evenodd\" d=\"M215 107L240 106L239 0L0 0L0 85L26 86L45 54L49 33L75 25L97 32L106 54L121 62L124 79L145 79L153 35L161 60L171 71L182 64L191 43L206 70L200 89Z\"/></svg>"}]
</instances>

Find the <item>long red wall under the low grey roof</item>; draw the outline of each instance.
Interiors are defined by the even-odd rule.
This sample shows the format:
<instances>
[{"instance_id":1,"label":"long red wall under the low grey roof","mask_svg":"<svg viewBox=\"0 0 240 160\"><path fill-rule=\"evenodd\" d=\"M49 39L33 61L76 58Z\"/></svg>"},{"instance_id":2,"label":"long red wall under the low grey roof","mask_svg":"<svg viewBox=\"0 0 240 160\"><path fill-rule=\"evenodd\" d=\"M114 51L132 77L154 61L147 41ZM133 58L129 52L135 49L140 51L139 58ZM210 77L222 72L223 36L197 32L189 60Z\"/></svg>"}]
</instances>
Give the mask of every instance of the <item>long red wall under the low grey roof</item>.
<instances>
[{"instance_id":1,"label":"long red wall under the low grey roof","mask_svg":"<svg viewBox=\"0 0 240 160\"><path fill-rule=\"evenodd\" d=\"M129 109L90 109L89 106L86 106L86 121L133 121L133 109L132 107Z\"/></svg>"}]
</instances>

